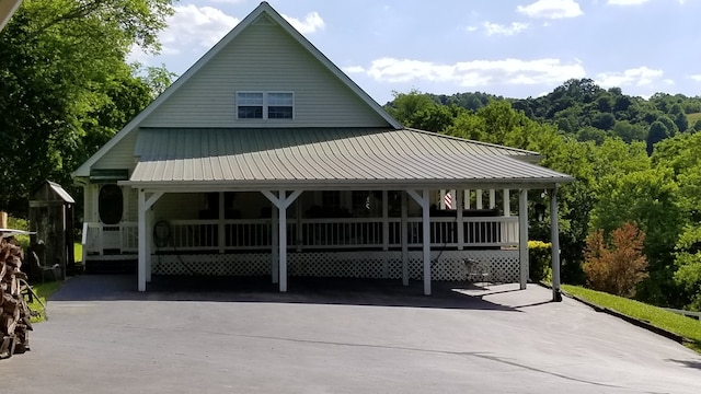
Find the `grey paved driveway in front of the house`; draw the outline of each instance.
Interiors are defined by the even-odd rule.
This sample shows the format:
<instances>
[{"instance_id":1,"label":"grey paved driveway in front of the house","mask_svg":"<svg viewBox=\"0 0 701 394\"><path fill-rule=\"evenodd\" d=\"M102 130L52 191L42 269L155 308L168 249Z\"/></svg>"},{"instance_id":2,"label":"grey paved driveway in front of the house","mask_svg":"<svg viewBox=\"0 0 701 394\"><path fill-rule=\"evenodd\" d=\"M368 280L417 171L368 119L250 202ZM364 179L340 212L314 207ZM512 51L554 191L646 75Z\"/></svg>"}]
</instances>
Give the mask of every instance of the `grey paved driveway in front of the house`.
<instances>
[{"instance_id":1,"label":"grey paved driveway in front of the house","mask_svg":"<svg viewBox=\"0 0 701 394\"><path fill-rule=\"evenodd\" d=\"M699 393L701 357L531 286L290 282L206 292L70 279L0 361L31 393ZM221 285L221 283L219 283ZM356 283L357 285L357 283ZM231 287L231 286L230 286ZM464 294L466 292L472 296ZM478 297L480 296L480 297Z\"/></svg>"}]
</instances>

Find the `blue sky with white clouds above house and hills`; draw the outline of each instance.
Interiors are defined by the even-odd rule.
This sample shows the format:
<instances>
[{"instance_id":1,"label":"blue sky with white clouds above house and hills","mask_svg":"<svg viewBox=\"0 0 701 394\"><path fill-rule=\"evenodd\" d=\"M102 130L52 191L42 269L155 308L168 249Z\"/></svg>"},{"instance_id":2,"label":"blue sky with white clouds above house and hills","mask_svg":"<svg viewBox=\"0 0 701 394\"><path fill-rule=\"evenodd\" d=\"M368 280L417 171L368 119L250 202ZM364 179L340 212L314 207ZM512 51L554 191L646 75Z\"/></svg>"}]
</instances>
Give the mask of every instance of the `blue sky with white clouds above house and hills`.
<instances>
[{"instance_id":1,"label":"blue sky with white clouds above house and hills","mask_svg":"<svg viewBox=\"0 0 701 394\"><path fill-rule=\"evenodd\" d=\"M184 73L257 0L181 0L159 56ZM268 0L378 103L412 89L538 96L571 78L701 95L701 0Z\"/></svg>"}]
</instances>

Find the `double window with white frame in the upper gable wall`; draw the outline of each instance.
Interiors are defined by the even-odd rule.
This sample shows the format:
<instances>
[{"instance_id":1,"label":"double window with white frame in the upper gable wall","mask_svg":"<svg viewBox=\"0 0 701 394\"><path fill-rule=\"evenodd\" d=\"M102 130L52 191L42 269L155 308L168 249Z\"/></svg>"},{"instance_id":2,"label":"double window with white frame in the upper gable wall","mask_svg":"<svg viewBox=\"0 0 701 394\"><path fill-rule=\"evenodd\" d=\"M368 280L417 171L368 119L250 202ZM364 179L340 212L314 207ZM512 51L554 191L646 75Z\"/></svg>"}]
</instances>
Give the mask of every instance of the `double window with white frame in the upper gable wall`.
<instances>
[{"instance_id":1,"label":"double window with white frame in the upper gable wall","mask_svg":"<svg viewBox=\"0 0 701 394\"><path fill-rule=\"evenodd\" d=\"M237 92L239 119L294 119L291 92Z\"/></svg>"}]
</instances>

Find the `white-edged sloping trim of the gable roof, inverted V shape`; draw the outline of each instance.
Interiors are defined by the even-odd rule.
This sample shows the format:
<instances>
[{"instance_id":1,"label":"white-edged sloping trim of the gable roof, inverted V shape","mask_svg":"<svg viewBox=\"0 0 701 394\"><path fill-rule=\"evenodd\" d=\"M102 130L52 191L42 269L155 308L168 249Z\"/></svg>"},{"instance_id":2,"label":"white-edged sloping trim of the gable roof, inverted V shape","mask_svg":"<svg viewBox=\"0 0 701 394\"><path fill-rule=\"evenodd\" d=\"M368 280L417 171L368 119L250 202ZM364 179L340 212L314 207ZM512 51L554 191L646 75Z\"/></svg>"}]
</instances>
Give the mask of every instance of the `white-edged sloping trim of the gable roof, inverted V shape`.
<instances>
[{"instance_id":1,"label":"white-edged sloping trim of the gable roof, inverted V shape","mask_svg":"<svg viewBox=\"0 0 701 394\"><path fill-rule=\"evenodd\" d=\"M344 85L354 92L368 107L376 112L388 125L394 129L401 129L402 125L392 118L382 107L370 97L360 86L358 86L348 76L346 76L337 66L335 66L326 56L324 56L317 47L314 47L304 36L302 36L292 25L289 24L277 11L275 11L267 2L263 1L253 12L244 18L237 26L234 26L219 43L209 49L199 60L197 60L184 74L182 74L171 86L169 86L160 96L158 96L149 106L147 106L139 115L129 121L119 132L117 132L107 143L105 143L95 154L88 159L72 176L89 176L90 167L97 162L106 152L114 148L125 136L134 131L139 125L157 108L166 101L174 92L199 71L210 59L216 57L229 43L235 39L241 32L249 25L258 20L262 15L269 18L277 23L287 34L297 40L309 54L315 58L323 67L329 69Z\"/></svg>"}]
</instances>

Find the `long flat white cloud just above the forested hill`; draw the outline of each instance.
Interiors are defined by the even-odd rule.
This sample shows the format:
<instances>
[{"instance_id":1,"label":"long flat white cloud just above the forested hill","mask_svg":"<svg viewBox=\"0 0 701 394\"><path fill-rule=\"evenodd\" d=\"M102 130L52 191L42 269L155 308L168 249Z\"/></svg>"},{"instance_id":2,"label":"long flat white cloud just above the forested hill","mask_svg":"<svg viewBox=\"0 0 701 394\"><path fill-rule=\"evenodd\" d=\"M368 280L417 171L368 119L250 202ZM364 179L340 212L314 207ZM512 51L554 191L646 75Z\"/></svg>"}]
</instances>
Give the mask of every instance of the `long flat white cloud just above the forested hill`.
<instances>
[{"instance_id":1,"label":"long flat white cloud just above the forested hill","mask_svg":"<svg viewBox=\"0 0 701 394\"><path fill-rule=\"evenodd\" d=\"M586 71L579 62L562 63L560 59L537 60L473 60L453 65L429 61L380 58L369 68L348 67L346 72L365 73L380 82L448 82L459 86L485 86L491 84L551 84L572 78L584 78Z\"/></svg>"}]
</instances>

